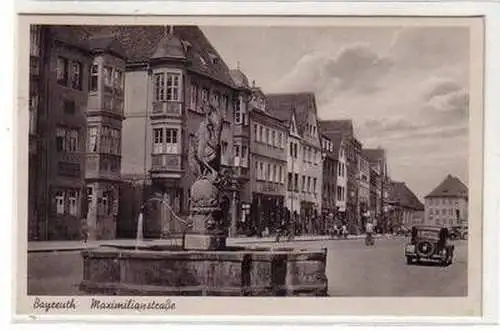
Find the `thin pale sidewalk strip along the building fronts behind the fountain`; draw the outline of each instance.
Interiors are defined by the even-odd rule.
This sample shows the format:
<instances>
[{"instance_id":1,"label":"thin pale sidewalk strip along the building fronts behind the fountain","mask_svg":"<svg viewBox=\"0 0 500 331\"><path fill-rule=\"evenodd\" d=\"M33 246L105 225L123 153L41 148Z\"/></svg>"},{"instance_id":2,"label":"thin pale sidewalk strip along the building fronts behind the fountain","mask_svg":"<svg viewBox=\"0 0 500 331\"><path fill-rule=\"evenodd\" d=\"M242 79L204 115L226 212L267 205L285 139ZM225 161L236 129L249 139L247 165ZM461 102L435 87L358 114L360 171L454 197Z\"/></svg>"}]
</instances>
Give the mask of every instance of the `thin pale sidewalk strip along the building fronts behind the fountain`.
<instances>
[{"instance_id":1,"label":"thin pale sidewalk strip along the building fronts behind the fountain","mask_svg":"<svg viewBox=\"0 0 500 331\"><path fill-rule=\"evenodd\" d=\"M381 237L381 235L376 235L375 237ZM387 236L385 236L387 237ZM297 241L343 241L343 240L356 240L362 239L364 235L351 235L347 239L344 238L332 238L330 236L296 236L292 241L286 240L286 238L281 239L280 243L291 243ZM228 245L250 245L250 244L263 244L263 243L274 243L276 237L234 237L228 238ZM181 239L145 239L143 243L154 243L154 244L180 244ZM84 243L82 241L30 241L28 242L28 252L60 252L60 251L81 251L84 249L93 249L102 245L112 245L120 244L133 246L136 244L135 239L115 239L115 240L98 240L89 241Z\"/></svg>"}]
</instances>

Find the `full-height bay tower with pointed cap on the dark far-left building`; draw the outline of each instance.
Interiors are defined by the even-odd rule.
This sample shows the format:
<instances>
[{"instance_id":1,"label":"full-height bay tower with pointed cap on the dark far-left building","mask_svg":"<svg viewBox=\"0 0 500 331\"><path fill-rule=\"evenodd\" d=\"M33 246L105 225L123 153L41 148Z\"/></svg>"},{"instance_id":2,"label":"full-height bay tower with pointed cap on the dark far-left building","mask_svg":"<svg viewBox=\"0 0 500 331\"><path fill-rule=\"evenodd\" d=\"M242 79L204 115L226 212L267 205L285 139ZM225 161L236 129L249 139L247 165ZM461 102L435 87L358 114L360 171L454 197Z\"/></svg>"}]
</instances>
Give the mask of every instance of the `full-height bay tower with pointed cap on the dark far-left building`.
<instances>
[{"instance_id":1,"label":"full-height bay tower with pointed cap on the dark far-left building","mask_svg":"<svg viewBox=\"0 0 500 331\"><path fill-rule=\"evenodd\" d=\"M87 222L89 237L116 237L121 139L125 88L125 58L113 37L91 38L87 110Z\"/></svg>"}]
</instances>

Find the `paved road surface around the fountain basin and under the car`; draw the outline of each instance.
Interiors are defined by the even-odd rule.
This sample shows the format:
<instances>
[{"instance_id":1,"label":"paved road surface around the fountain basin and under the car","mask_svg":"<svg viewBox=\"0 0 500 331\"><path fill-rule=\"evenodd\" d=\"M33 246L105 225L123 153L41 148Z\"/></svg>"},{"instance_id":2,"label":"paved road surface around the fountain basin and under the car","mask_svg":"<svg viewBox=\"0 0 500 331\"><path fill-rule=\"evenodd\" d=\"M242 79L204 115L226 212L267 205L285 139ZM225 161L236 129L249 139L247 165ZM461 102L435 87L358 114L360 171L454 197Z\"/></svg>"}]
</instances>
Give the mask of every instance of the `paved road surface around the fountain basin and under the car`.
<instances>
[{"instance_id":1,"label":"paved road surface around the fountain basin and under the car","mask_svg":"<svg viewBox=\"0 0 500 331\"><path fill-rule=\"evenodd\" d=\"M270 246L277 244L260 244ZM281 246L328 248L327 276L332 296L467 295L467 242L457 241L451 266L406 265L404 239L280 243ZM28 292L76 295L83 272L78 252L41 252L28 256Z\"/></svg>"}]
</instances>

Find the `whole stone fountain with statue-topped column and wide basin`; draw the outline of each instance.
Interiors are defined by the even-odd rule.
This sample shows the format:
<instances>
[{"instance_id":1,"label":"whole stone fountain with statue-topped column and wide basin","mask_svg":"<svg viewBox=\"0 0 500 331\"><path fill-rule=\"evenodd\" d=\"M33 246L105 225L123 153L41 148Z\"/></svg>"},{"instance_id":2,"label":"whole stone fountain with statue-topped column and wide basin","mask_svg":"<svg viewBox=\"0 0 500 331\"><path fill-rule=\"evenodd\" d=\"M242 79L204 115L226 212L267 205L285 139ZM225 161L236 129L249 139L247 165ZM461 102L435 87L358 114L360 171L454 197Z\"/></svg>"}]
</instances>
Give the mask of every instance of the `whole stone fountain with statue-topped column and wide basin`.
<instances>
[{"instance_id":1,"label":"whole stone fountain with statue-topped column and wide basin","mask_svg":"<svg viewBox=\"0 0 500 331\"><path fill-rule=\"evenodd\" d=\"M82 252L80 289L92 295L326 296L326 249L247 248L226 245L220 192L221 117L205 107L190 164L190 230L183 246L140 242ZM138 235L138 238L140 236Z\"/></svg>"}]
</instances>

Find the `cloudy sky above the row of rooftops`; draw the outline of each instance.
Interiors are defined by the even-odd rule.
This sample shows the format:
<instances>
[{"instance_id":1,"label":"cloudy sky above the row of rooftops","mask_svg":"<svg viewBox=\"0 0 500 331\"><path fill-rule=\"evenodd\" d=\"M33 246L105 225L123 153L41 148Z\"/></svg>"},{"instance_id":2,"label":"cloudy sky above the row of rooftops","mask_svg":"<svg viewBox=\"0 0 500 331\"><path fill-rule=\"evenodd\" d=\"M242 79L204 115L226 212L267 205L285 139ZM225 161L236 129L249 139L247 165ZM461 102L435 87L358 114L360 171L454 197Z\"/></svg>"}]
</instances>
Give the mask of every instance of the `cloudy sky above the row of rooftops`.
<instances>
[{"instance_id":1,"label":"cloudy sky above the row of rooftops","mask_svg":"<svg viewBox=\"0 0 500 331\"><path fill-rule=\"evenodd\" d=\"M468 183L469 31L464 27L202 27L265 93L314 92L320 119L352 119L364 148L423 199Z\"/></svg>"}]
</instances>

